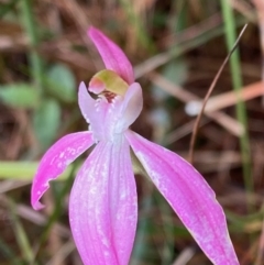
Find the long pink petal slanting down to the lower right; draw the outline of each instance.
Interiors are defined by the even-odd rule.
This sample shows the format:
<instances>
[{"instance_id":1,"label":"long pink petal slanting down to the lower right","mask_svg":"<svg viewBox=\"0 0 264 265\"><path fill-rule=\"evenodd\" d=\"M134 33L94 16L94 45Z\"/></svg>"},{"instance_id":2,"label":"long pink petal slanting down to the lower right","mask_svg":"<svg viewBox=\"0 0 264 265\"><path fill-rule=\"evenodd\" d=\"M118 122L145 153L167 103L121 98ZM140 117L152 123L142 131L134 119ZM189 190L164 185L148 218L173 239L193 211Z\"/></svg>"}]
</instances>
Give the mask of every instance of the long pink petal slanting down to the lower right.
<instances>
[{"instance_id":1,"label":"long pink petal slanting down to the lower right","mask_svg":"<svg viewBox=\"0 0 264 265\"><path fill-rule=\"evenodd\" d=\"M139 134L125 134L136 157L205 254L216 265L239 265L216 195L184 158Z\"/></svg>"}]
</instances>

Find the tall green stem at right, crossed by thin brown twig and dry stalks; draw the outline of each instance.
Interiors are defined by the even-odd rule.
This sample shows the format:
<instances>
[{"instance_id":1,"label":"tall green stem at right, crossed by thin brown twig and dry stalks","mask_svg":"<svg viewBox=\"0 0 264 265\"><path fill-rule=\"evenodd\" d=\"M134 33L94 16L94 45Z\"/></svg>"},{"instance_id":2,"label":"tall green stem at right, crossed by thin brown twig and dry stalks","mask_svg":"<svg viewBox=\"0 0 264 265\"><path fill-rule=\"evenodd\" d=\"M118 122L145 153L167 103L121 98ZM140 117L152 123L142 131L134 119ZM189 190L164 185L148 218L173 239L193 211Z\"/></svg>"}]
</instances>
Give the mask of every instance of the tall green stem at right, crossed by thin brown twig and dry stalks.
<instances>
[{"instance_id":1,"label":"tall green stem at right, crossed by thin brown twig and dry stalks","mask_svg":"<svg viewBox=\"0 0 264 265\"><path fill-rule=\"evenodd\" d=\"M231 49L237 38L234 14L228 0L221 0L221 8L224 20L227 46L229 49ZM244 102L241 100L241 88L243 87L243 84L241 78L240 57L238 49L230 58L230 69L232 76L232 86L238 96L238 103L235 106L237 118L244 126L244 133L240 137L240 148L242 153L244 185L246 194L249 195L253 192L254 184L251 177L250 139L248 133L246 109ZM250 203L249 200L248 203ZM250 205L248 208L250 210Z\"/></svg>"}]
</instances>

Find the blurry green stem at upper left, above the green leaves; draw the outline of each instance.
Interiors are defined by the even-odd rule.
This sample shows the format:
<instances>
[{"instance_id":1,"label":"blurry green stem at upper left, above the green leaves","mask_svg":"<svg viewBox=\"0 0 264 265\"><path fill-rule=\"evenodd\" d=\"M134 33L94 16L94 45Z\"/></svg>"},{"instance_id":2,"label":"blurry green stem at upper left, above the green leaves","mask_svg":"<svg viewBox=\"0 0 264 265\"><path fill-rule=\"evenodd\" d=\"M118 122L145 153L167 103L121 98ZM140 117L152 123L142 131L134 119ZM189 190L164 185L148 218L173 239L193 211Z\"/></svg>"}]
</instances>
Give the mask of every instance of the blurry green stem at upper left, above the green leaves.
<instances>
[{"instance_id":1,"label":"blurry green stem at upper left, above the green leaves","mask_svg":"<svg viewBox=\"0 0 264 265\"><path fill-rule=\"evenodd\" d=\"M31 65L32 77L34 79L36 87L38 88L38 91L42 92L43 84L44 84L43 65L42 65L41 56L36 51L38 40L37 40L37 33L35 27L35 21L33 18L32 2L30 0L21 1L21 12L23 15L24 29L29 35L30 44L31 44L29 60Z\"/></svg>"}]
</instances>

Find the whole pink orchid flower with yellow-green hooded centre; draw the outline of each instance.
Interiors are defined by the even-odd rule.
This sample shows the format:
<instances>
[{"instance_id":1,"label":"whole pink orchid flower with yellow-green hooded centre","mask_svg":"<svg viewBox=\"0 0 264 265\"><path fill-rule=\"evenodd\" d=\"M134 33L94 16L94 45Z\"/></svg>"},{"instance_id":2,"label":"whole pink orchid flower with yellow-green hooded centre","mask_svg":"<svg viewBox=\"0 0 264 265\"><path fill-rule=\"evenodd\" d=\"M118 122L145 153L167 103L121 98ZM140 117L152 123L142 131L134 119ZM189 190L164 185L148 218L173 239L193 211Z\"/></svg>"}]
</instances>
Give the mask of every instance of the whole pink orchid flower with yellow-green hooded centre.
<instances>
[{"instance_id":1,"label":"whole pink orchid flower with yellow-green hooded centre","mask_svg":"<svg viewBox=\"0 0 264 265\"><path fill-rule=\"evenodd\" d=\"M95 27L88 34L107 68L92 77L88 90L84 82L79 86L79 107L89 131L62 137L43 156L32 185L33 208L43 207L40 199L48 181L96 144L72 189L72 232L84 264L127 265L138 220L131 146L210 261L239 264L223 210L202 176L180 156L129 129L142 110L143 99L127 56Z\"/></svg>"}]
</instances>

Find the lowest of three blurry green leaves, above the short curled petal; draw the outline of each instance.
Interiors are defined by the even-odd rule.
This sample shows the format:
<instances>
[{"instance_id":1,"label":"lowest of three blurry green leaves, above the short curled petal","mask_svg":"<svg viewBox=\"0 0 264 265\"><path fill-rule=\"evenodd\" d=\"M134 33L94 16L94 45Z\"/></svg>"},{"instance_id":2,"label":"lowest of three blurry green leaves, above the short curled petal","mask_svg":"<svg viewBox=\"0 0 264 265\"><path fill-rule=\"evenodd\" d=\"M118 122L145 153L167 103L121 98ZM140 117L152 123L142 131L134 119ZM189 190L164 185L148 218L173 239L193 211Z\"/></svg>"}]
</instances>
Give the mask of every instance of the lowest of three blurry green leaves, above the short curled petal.
<instances>
[{"instance_id":1,"label":"lowest of three blurry green leaves, above the short curled petal","mask_svg":"<svg viewBox=\"0 0 264 265\"><path fill-rule=\"evenodd\" d=\"M61 126L61 107L57 101L43 101L33 117L36 137L43 148L48 147L55 140Z\"/></svg>"}]
</instances>

